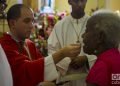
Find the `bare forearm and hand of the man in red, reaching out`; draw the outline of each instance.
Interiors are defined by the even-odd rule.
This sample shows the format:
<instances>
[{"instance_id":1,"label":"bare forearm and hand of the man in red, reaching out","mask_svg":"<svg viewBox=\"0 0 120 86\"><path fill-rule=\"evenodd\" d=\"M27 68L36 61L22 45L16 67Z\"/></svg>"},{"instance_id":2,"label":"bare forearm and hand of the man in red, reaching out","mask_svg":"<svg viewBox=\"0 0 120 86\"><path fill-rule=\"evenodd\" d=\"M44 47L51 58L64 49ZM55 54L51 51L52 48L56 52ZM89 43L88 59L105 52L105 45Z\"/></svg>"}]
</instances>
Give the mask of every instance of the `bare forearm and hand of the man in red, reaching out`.
<instances>
[{"instance_id":1,"label":"bare forearm and hand of the man in red, reaching out","mask_svg":"<svg viewBox=\"0 0 120 86\"><path fill-rule=\"evenodd\" d=\"M54 53L52 55L53 60L54 60L54 62L56 64L65 57L70 57L71 59L74 59L75 57L78 56L80 51L81 51L80 44L71 44L69 46L66 46L66 47L60 49L56 53Z\"/></svg>"}]
</instances>

